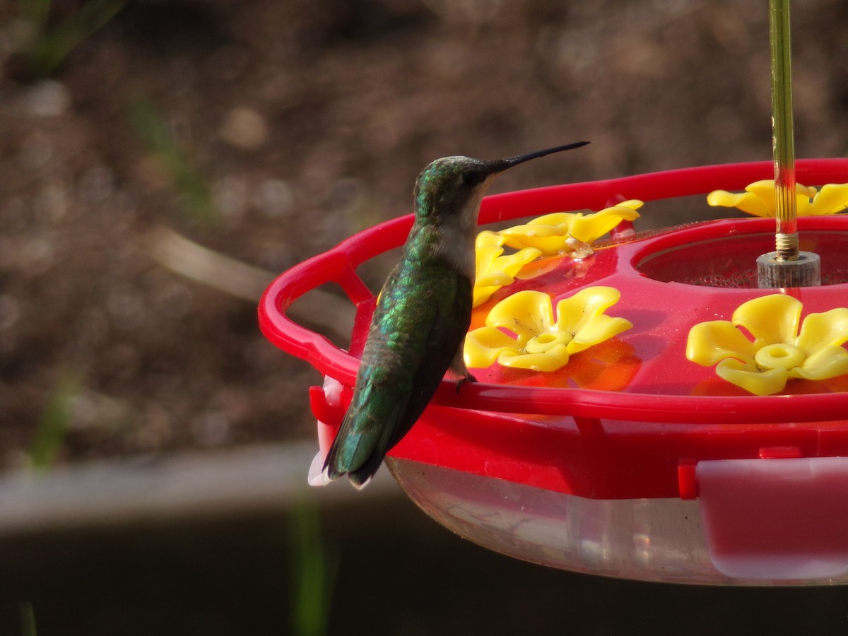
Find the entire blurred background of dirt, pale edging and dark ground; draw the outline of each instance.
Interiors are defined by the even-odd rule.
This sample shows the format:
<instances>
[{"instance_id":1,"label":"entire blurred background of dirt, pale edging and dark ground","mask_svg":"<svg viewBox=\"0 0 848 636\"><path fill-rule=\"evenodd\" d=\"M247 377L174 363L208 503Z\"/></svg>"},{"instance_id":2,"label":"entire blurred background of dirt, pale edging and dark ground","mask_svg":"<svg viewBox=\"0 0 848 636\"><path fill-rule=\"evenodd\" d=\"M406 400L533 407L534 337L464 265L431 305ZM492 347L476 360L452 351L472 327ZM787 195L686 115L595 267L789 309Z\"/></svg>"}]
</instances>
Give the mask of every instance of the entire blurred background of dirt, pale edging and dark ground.
<instances>
[{"instance_id":1,"label":"entire blurred background of dirt, pale edging and dark ground","mask_svg":"<svg viewBox=\"0 0 848 636\"><path fill-rule=\"evenodd\" d=\"M796 154L845 156L848 4L792 8ZM440 156L592 142L492 192L770 159L766 3L6 0L0 71L0 634L844 632L839 588L552 572L390 479L308 491L321 378L255 318Z\"/></svg>"}]
</instances>

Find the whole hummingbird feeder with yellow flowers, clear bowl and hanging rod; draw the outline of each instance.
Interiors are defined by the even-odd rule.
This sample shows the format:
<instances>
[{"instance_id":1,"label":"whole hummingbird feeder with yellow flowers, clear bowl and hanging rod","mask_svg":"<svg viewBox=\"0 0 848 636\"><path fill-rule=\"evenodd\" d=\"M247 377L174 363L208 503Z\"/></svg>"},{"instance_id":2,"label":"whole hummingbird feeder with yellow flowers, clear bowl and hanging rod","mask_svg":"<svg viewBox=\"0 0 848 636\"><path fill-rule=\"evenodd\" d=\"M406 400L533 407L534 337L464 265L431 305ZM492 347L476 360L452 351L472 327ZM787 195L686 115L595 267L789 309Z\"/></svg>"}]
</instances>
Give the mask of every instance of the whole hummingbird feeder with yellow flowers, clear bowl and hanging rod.
<instances>
[{"instance_id":1,"label":"whole hummingbird feeder with yellow flowers, clear bowl and hanging rod","mask_svg":"<svg viewBox=\"0 0 848 636\"><path fill-rule=\"evenodd\" d=\"M769 6L773 163L483 199L481 224L546 216L480 235L465 350L478 382L444 381L386 458L445 527L576 572L848 583L848 215L832 214L848 205L848 159L795 162L789 2ZM650 215L653 201L708 192L774 219L629 226L643 202ZM583 214L562 214L584 209L601 210L608 241L593 247ZM326 377L310 390L325 451L376 301L357 268L411 225L388 221L293 267L259 305L267 338ZM503 245L520 251L494 265ZM348 350L286 315L331 282L356 308Z\"/></svg>"}]
</instances>

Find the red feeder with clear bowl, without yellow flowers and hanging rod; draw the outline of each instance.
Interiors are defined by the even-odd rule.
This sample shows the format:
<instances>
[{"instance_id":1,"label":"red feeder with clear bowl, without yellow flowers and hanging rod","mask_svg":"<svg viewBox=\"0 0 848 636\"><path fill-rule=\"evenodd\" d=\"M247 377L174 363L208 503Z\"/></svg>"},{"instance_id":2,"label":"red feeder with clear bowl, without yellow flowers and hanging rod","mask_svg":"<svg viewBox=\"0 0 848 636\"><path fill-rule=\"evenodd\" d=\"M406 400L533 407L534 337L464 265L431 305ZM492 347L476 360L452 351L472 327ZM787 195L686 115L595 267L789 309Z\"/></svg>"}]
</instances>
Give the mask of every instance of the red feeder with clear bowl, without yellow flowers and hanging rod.
<instances>
[{"instance_id":1,"label":"red feeder with clear bowl, without yellow flowers and hanging rod","mask_svg":"<svg viewBox=\"0 0 848 636\"><path fill-rule=\"evenodd\" d=\"M848 181L848 159L797 162L808 185ZM482 224L741 190L771 162L715 165L508 192ZM706 203L705 203L706 205ZM650 215L650 204L643 209ZM354 385L375 304L356 268L403 244L412 215L360 232L293 267L259 305L265 336L326 376L310 392L328 444ZM799 219L822 287L783 290L804 315L848 304L848 216ZM848 583L848 377L756 396L685 357L689 327L729 320L756 289L774 220L728 219L613 241L504 287L554 298L616 287L633 328L553 374L495 364L443 386L387 458L417 505L460 535L547 566L683 583ZM291 321L287 308L334 282L356 306L350 351ZM496 296L496 298L499 298ZM478 308L480 309L480 308Z\"/></svg>"}]
</instances>

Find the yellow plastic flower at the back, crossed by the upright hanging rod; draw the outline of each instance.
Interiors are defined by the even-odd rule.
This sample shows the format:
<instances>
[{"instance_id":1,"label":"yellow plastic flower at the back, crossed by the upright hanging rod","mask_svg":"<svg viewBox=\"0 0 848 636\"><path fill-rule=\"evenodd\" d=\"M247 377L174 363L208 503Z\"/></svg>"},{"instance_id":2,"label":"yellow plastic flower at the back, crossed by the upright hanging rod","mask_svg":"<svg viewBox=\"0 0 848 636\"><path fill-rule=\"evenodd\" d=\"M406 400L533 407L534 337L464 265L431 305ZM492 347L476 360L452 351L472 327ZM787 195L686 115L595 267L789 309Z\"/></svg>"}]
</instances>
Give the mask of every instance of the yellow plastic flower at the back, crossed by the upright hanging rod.
<instances>
[{"instance_id":1,"label":"yellow plastic flower at the back, crossed by the upright hanging rod","mask_svg":"<svg viewBox=\"0 0 848 636\"><path fill-rule=\"evenodd\" d=\"M798 216L834 215L848 208L848 183L828 183L821 191L795 184ZM710 205L739 208L749 215L774 216L774 180L755 181L745 192L714 190L706 195Z\"/></svg>"}]
</instances>

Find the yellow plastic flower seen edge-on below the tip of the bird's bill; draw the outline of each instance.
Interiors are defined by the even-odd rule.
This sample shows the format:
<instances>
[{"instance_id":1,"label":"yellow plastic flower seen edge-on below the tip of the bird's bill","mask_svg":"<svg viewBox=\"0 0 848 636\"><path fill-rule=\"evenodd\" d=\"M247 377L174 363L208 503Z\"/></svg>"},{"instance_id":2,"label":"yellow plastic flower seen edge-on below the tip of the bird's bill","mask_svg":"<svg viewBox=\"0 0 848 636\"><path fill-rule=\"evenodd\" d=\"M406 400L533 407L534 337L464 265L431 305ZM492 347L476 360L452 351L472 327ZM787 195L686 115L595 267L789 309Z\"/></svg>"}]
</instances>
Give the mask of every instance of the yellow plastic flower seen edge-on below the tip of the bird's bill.
<instances>
[{"instance_id":1,"label":"yellow plastic flower seen edge-on below the tip of the bird's bill","mask_svg":"<svg viewBox=\"0 0 848 636\"><path fill-rule=\"evenodd\" d=\"M636 210L642 205L642 201L632 199L589 215L555 212L523 226L501 230L499 234L510 248L537 248L547 255L565 254L583 245L588 247L622 220L638 219L639 212Z\"/></svg>"}]
</instances>

